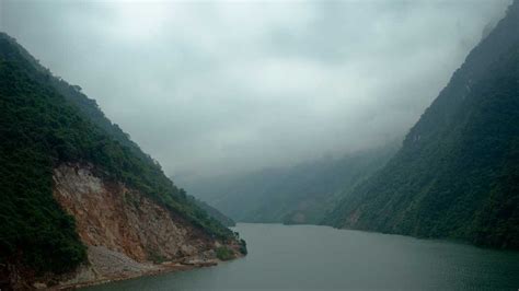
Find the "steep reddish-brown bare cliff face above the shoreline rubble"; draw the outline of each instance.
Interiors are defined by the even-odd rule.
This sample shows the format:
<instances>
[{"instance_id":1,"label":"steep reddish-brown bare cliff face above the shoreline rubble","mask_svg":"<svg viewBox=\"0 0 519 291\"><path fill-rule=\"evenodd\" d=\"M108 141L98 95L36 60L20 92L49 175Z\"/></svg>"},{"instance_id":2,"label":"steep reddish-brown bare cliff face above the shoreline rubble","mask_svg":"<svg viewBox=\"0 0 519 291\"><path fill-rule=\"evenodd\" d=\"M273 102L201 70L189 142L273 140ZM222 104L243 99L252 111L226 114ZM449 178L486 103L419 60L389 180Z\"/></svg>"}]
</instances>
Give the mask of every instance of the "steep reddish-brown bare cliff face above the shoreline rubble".
<instances>
[{"instance_id":1,"label":"steep reddish-brown bare cliff face above the shoreline rubble","mask_svg":"<svg viewBox=\"0 0 519 291\"><path fill-rule=\"evenodd\" d=\"M76 218L88 246L105 246L138 260L176 259L210 249L214 241L138 190L97 177L91 165L54 171L54 196Z\"/></svg>"}]
</instances>

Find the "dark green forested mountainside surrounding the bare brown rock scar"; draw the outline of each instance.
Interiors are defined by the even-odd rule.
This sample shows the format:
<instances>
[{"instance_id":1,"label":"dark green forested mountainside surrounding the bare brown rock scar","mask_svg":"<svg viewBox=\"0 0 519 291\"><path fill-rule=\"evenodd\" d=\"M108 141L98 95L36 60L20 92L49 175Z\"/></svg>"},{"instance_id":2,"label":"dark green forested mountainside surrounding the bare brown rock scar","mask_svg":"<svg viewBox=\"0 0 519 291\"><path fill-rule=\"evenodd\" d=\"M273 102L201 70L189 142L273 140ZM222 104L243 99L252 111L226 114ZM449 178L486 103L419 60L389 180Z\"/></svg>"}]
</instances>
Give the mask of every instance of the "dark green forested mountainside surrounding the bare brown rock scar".
<instances>
[{"instance_id":1,"label":"dark green forested mountainside surrounding the bare brown rock scar","mask_svg":"<svg viewBox=\"0 0 519 291\"><path fill-rule=\"evenodd\" d=\"M229 229L208 217L164 175L157 162L113 125L95 101L82 94L79 86L54 77L3 33L0 137L0 279L15 278L12 272L22 269L33 276L65 272L85 261L85 242L77 233L74 217L64 209L64 203L72 201L70 197L61 205L56 200L57 185L71 177L84 176L92 182L94 176L99 178L94 182L102 181L106 191L120 189L124 197L117 199L141 197L140 202L151 201L148 205L152 209L165 209L170 213L165 216L177 225L196 230L198 234L193 237L207 242L234 240ZM67 168L76 168L76 173L56 176L68 173ZM81 176L84 173L90 174ZM72 193L81 193L84 187ZM91 188L95 191L100 188L96 187ZM146 216L139 200L126 202L131 211ZM68 210L73 212L76 208ZM122 219L119 225L127 222ZM146 248L147 242L141 245ZM157 249L145 251L151 254Z\"/></svg>"}]
</instances>

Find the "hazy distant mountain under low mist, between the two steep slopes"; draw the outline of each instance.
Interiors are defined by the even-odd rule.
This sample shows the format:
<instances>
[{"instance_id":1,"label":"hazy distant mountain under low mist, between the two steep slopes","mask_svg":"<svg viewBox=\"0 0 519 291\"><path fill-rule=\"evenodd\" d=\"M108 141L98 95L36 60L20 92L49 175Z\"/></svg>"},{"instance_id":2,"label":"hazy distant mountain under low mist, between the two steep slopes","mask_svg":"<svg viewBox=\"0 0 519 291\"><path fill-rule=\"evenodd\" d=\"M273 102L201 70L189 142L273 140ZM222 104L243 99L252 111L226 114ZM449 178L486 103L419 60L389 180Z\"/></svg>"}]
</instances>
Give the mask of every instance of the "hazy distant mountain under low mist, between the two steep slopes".
<instances>
[{"instance_id":1,"label":"hazy distant mountain under low mist, between the two steep slopes","mask_svg":"<svg viewBox=\"0 0 519 291\"><path fill-rule=\"evenodd\" d=\"M334 202L380 168L396 142L341 159L183 182L237 221L318 224Z\"/></svg>"}]
</instances>

